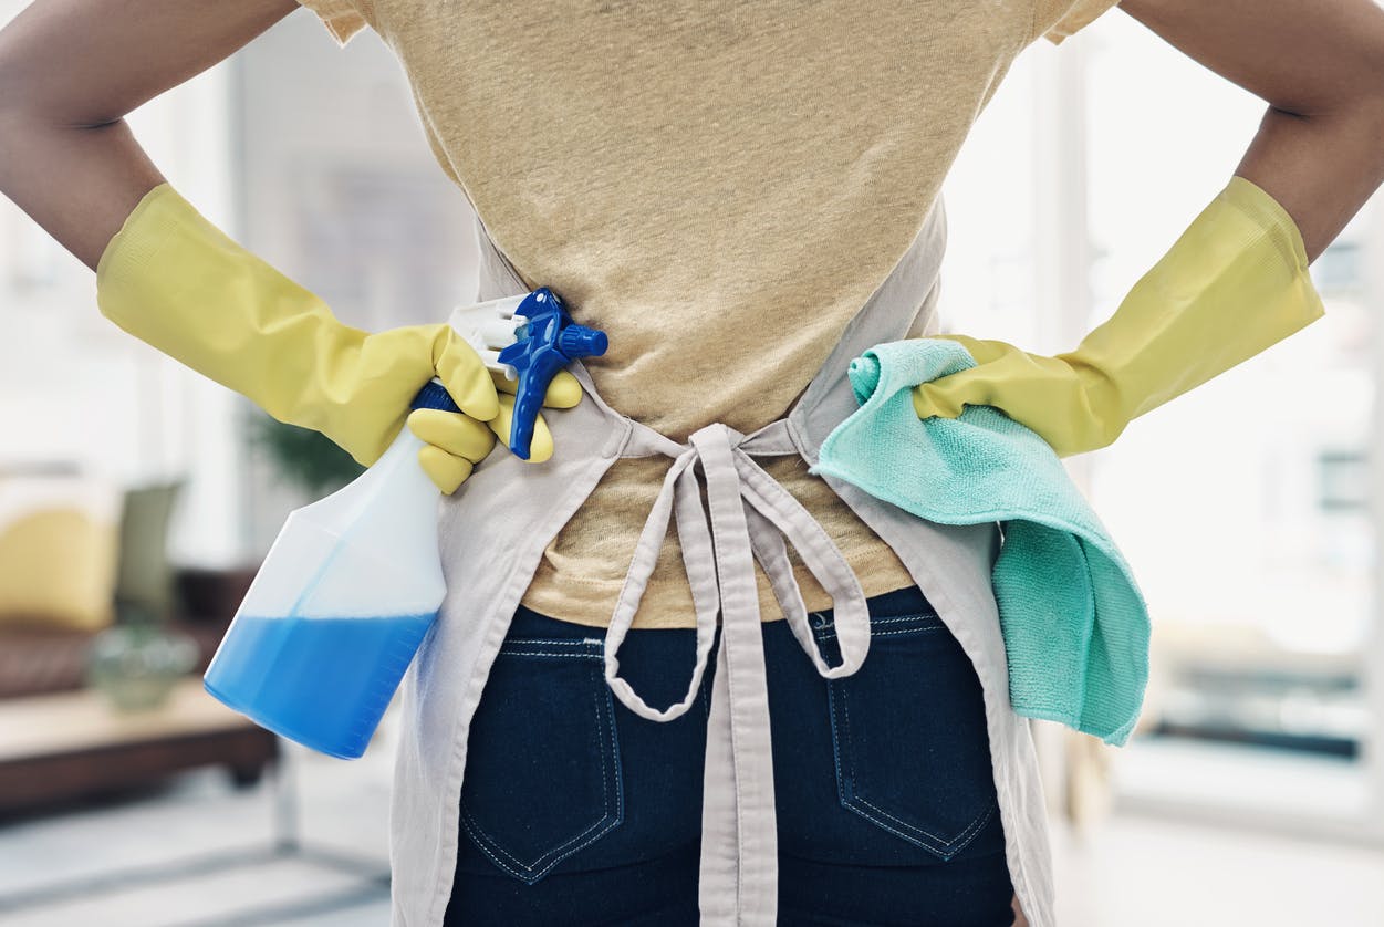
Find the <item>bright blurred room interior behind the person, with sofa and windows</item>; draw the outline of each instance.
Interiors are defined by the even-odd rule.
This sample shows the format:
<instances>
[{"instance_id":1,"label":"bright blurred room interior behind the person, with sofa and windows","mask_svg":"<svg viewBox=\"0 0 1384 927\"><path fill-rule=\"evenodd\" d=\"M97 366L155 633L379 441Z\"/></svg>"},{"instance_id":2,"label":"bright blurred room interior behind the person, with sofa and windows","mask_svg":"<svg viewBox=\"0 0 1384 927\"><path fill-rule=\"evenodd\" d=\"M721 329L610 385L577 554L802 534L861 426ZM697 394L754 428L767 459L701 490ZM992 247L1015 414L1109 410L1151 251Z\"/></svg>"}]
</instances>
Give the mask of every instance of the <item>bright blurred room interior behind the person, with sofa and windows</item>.
<instances>
[{"instance_id":1,"label":"bright blurred room interior behind the person, with sofa and windows","mask_svg":"<svg viewBox=\"0 0 1384 927\"><path fill-rule=\"evenodd\" d=\"M1120 12L1035 44L947 183L943 331L1073 347L1262 112ZM374 36L299 11L129 122L347 322L472 300L469 208ZM1038 725L1063 924L1384 923L1380 199L1312 268L1326 318L1068 459L1154 654L1129 746ZM8 201L0 422L0 924L388 923L397 701L347 762L199 685L284 516L354 465L107 322Z\"/></svg>"}]
</instances>

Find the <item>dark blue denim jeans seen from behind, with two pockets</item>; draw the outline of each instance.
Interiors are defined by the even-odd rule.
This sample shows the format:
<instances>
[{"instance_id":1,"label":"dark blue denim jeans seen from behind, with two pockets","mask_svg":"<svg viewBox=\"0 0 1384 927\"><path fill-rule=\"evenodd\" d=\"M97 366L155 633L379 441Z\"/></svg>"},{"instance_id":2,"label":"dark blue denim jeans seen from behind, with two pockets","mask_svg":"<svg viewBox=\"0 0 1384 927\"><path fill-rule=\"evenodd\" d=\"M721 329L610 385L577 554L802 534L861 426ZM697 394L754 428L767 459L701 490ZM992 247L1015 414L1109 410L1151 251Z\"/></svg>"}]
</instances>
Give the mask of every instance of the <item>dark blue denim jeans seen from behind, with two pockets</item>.
<instances>
[{"instance_id":1,"label":"dark blue denim jeans seen from behind, with two pockets","mask_svg":"<svg viewBox=\"0 0 1384 927\"><path fill-rule=\"evenodd\" d=\"M786 621L764 624L779 924L1010 924L974 668L918 587L869 610L869 654L841 679L817 674ZM811 618L840 663L832 612ZM610 693L602 635L515 614L471 726L448 927L698 923L716 650L698 704L657 722ZM671 704L693 639L634 630L621 674Z\"/></svg>"}]
</instances>

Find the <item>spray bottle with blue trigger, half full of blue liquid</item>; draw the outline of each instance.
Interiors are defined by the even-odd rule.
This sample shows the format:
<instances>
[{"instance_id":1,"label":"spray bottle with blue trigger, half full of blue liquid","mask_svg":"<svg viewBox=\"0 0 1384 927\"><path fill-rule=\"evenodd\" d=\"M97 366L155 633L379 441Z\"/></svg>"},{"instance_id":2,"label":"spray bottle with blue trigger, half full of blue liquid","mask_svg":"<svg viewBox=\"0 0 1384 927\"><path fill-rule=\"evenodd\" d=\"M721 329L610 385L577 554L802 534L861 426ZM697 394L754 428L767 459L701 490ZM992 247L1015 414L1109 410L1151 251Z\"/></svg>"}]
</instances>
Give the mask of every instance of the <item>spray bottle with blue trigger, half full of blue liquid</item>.
<instances>
[{"instance_id":1,"label":"spray bottle with blue trigger, half full of blue liquid","mask_svg":"<svg viewBox=\"0 0 1384 927\"><path fill-rule=\"evenodd\" d=\"M525 459L552 376L606 350L547 286L458 307L450 324L518 379L509 448ZM412 408L458 411L436 379ZM404 428L354 481L288 516L203 674L210 695L320 753L364 754L446 594L421 448Z\"/></svg>"}]
</instances>

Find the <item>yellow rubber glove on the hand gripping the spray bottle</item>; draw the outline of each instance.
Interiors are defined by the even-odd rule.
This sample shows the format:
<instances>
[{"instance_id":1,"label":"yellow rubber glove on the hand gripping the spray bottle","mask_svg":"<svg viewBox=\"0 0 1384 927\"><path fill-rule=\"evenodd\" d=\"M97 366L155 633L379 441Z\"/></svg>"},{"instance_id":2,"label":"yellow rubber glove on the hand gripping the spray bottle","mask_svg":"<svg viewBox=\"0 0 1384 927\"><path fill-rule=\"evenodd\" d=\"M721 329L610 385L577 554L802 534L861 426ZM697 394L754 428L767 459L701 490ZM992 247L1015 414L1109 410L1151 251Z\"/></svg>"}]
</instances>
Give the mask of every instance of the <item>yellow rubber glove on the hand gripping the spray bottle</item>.
<instances>
[{"instance_id":1,"label":"yellow rubber glove on the hand gripping the spray bottle","mask_svg":"<svg viewBox=\"0 0 1384 927\"><path fill-rule=\"evenodd\" d=\"M101 313L158 350L249 397L281 422L322 432L368 466L407 421L428 443L419 464L453 493L495 437L508 446L515 389L450 325L367 333L208 221L172 185L138 202L97 263ZM461 414L408 404L433 376ZM508 387L508 393L498 390ZM581 386L559 371L545 405ZM552 455L543 416L531 462Z\"/></svg>"}]
</instances>

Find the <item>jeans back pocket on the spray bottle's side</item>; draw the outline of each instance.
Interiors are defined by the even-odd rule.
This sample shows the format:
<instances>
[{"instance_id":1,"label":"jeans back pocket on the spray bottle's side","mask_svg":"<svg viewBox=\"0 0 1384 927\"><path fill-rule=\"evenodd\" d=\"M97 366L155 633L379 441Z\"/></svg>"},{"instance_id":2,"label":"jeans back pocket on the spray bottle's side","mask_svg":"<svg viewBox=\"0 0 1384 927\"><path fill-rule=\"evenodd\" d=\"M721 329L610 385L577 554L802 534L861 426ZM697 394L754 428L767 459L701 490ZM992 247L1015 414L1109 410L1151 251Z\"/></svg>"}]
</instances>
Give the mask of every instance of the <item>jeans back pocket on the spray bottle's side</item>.
<instances>
[{"instance_id":1,"label":"jeans back pocket on the spray bottle's side","mask_svg":"<svg viewBox=\"0 0 1384 927\"><path fill-rule=\"evenodd\" d=\"M461 826L529 884L624 818L602 653L597 638L507 638L471 722Z\"/></svg>"}]
</instances>

